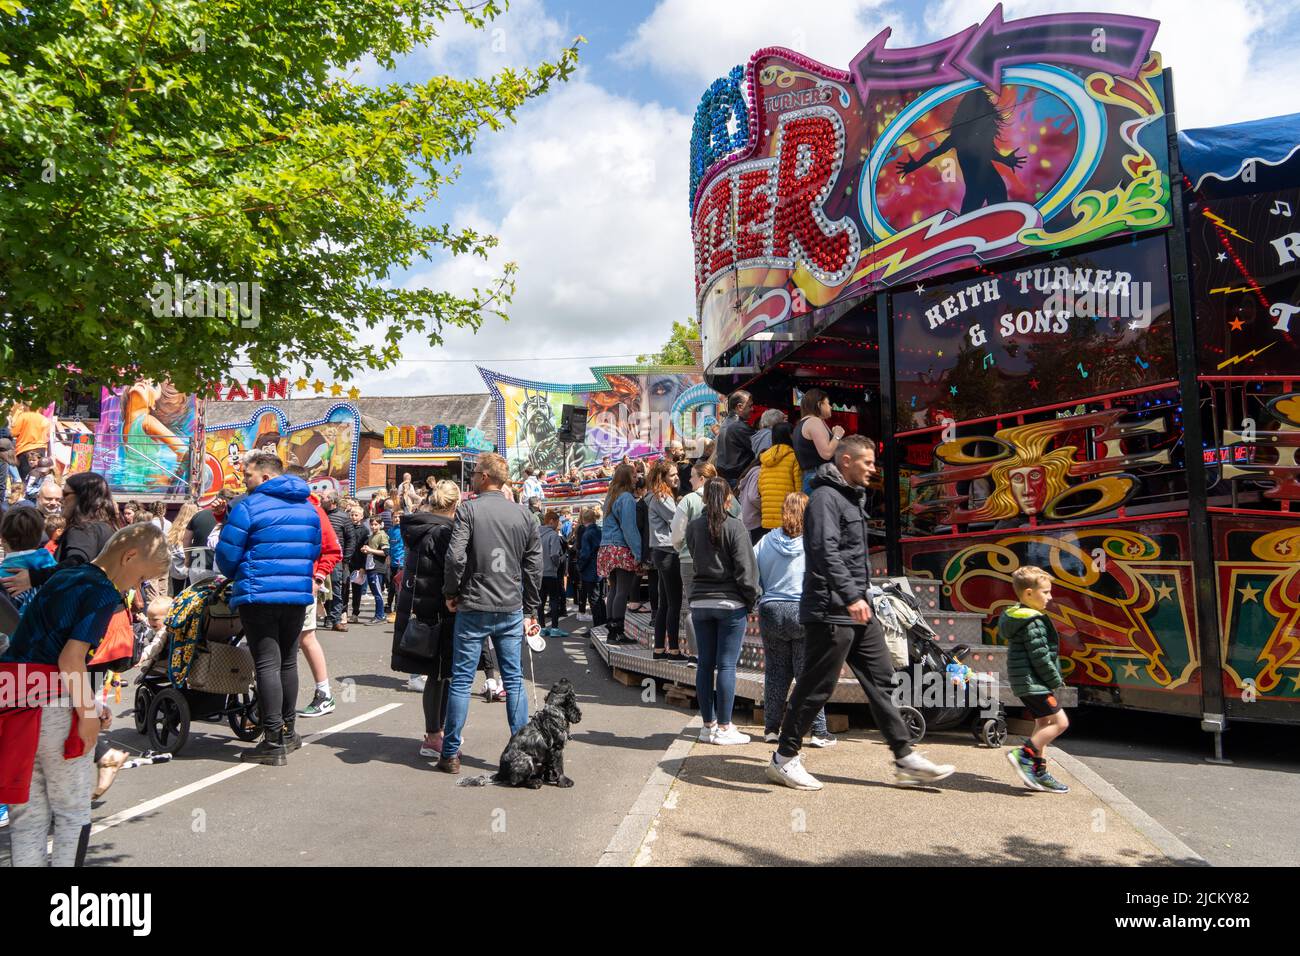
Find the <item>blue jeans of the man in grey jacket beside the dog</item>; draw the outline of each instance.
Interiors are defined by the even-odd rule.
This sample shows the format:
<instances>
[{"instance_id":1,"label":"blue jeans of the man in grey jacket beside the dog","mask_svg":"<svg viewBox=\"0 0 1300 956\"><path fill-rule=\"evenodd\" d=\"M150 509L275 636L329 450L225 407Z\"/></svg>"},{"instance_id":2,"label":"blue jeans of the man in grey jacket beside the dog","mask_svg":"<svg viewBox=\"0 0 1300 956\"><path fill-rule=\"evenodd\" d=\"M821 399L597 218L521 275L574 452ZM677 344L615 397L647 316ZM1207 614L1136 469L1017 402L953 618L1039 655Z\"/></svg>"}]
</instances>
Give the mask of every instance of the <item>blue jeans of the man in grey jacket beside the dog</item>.
<instances>
[{"instance_id":1,"label":"blue jeans of the man in grey jacket beside the dog","mask_svg":"<svg viewBox=\"0 0 1300 956\"><path fill-rule=\"evenodd\" d=\"M447 723L443 726L442 756L460 752L460 732L469 717L469 691L484 644L491 639L497 648L497 666L506 685L506 721L516 734L528 723L528 697L524 696L523 611L465 611L456 614L456 631L451 639L451 692L447 698Z\"/></svg>"}]
</instances>

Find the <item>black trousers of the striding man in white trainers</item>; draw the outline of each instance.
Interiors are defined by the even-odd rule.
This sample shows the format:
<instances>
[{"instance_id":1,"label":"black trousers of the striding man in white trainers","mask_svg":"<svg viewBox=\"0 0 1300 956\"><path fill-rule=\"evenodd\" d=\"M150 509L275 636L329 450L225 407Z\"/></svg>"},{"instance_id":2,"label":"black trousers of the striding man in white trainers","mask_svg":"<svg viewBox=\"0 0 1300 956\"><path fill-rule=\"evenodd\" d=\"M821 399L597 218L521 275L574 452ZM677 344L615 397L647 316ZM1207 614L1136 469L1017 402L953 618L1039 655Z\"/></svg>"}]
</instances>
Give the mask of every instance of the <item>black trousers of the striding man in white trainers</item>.
<instances>
[{"instance_id":1,"label":"black trousers of the striding man in white trainers","mask_svg":"<svg viewBox=\"0 0 1300 956\"><path fill-rule=\"evenodd\" d=\"M801 741L812 730L818 710L831 700L845 663L867 695L871 719L884 734L894 758L911 753L907 728L893 704L893 661L889 658L880 622L874 617L866 624L828 624L818 620L805 624L803 633L803 672L796 678L794 692L785 708L777 753L783 757L798 754Z\"/></svg>"}]
</instances>

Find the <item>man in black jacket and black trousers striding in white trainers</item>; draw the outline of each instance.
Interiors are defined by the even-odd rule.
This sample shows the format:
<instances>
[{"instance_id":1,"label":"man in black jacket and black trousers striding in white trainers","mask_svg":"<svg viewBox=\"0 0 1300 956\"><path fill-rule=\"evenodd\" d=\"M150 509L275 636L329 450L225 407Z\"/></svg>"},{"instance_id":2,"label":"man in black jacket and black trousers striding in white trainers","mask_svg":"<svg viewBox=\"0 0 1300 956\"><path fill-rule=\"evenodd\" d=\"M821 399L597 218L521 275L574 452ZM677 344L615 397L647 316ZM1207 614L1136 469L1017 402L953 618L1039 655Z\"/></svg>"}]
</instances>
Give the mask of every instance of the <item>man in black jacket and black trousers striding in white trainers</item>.
<instances>
[{"instance_id":1,"label":"man in black jacket and black trousers striding in white trainers","mask_svg":"<svg viewBox=\"0 0 1300 956\"><path fill-rule=\"evenodd\" d=\"M800 744L831 698L845 663L858 679L871 718L894 754L894 783L914 787L953 773L913 753L907 728L892 701L893 662L885 633L871 613L867 588L867 483L876 473L876 445L861 434L840 440L835 459L818 468L803 512L803 594L800 622L807 646L803 672L785 708L781 743L767 777L796 790L822 790L803 769Z\"/></svg>"}]
</instances>

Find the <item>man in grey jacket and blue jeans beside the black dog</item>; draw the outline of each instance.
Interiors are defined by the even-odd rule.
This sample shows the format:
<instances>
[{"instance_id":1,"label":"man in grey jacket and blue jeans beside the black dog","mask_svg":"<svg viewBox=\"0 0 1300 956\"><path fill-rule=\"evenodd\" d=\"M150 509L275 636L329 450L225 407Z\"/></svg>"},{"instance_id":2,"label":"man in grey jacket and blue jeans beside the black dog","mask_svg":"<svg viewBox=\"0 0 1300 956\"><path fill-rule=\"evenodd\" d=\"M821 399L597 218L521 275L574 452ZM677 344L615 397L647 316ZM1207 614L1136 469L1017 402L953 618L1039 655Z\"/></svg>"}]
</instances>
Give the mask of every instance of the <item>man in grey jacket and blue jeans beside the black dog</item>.
<instances>
[{"instance_id":1,"label":"man in grey jacket and blue jeans beside the black dog","mask_svg":"<svg viewBox=\"0 0 1300 956\"><path fill-rule=\"evenodd\" d=\"M524 632L537 627L542 585L542 546L537 525L504 494L506 459L478 457L477 498L456 510L447 545L442 593L456 615L451 644L451 692L438 769L460 773L460 734L469 715L469 691L484 643L491 639L506 685L506 719L515 734L528 723L524 696Z\"/></svg>"}]
</instances>

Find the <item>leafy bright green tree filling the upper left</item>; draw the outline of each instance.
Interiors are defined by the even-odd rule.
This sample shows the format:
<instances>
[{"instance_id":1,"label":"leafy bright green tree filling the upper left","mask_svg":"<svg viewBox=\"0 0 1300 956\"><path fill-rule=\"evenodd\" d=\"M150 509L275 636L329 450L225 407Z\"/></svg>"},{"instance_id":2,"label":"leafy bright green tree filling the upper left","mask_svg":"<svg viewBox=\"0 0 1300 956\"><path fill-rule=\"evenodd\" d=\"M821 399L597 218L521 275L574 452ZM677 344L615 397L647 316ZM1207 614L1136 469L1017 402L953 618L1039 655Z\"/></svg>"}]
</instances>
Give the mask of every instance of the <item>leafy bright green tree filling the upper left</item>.
<instances>
[{"instance_id":1,"label":"leafy bright green tree filling the upper left","mask_svg":"<svg viewBox=\"0 0 1300 956\"><path fill-rule=\"evenodd\" d=\"M577 64L490 78L367 86L458 0L0 0L0 393L170 377L194 389L243 355L346 378L382 368L402 336L478 328L515 289L506 264L459 295L385 287L436 255L488 258L493 235L422 213L481 131L499 130ZM486 42L486 38L485 38ZM168 311L257 282L257 315ZM246 287L246 304L251 304ZM162 311L162 315L156 315ZM380 345L364 329L384 328Z\"/></svg>"}]
</instances>

